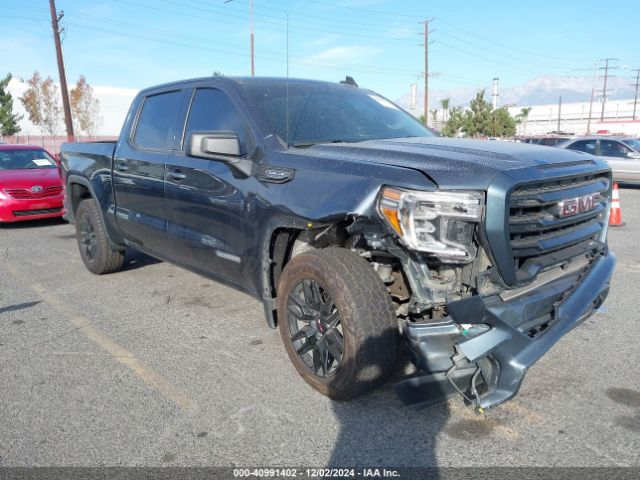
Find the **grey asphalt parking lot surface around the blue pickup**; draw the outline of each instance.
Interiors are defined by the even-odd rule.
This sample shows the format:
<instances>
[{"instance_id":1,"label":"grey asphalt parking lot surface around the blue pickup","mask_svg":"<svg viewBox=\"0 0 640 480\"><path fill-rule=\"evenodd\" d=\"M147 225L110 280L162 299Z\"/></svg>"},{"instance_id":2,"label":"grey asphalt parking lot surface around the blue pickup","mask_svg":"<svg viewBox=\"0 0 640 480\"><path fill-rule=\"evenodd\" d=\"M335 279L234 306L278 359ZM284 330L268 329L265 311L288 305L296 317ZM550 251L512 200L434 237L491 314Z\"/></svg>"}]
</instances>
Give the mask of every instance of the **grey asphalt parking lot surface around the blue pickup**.
<instances>
[{"instance_id":1,"label":"grey asphalt parking lot surface around the blue pickup","mask_svg":"<svg viewBox=\"0 0 640 480\"><path fill-rule=\"evenodd\" d=\"M621 203L604 311L483 416L391 383L332 402L252 298L141 255L93 276L71 225L0 227L0 465L640 466L640 189Z\"/></svg>"}]
</instances>

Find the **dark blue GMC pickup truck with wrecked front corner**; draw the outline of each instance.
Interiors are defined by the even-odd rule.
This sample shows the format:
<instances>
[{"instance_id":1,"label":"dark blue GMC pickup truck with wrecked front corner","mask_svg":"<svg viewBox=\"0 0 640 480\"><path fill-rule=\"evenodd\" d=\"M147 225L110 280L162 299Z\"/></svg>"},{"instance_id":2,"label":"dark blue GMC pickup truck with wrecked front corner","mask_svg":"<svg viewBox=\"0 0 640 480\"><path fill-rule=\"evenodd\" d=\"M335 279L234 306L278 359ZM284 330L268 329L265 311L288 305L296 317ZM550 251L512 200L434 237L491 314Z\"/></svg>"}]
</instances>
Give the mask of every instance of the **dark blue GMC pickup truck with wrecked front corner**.
<instances>
[{"instance_id":1,"label":"dark blue GMC pickup truck with wrecked front corner","mask_svg":"<svg viewBox=\"0 0 640 480\"><path fill-rule=\"evenodd\" d=\"M500 404L614 268L605 163L436 138L348 81L150 88L117 142L65 144L61 164L91 272L132 248L247 292L335 399L379 385L402 350L406 402Z\"/></svg>"}]
</instances>

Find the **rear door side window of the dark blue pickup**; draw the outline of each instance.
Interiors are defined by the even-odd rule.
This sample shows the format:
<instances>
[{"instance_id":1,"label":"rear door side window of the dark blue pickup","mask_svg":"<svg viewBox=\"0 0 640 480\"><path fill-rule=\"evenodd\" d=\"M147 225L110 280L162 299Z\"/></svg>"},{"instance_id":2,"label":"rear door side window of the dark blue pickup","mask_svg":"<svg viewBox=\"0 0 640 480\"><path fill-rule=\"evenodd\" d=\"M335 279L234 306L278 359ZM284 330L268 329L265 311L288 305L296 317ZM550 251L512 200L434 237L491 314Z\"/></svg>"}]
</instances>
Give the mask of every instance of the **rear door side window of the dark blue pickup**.
<instances>
[{"instance_id":1,"label":"rear door side window of the dark blue pickup","mask_svg":"<svg viewBox=\"0 0 640 480\"><path fill-rule=\"evenodd\" d=\"M158 93L144 99L133 143L142 148L174 150L178 148L176 124L180 116L183 91Z\"/></svg>"}]
</instances>

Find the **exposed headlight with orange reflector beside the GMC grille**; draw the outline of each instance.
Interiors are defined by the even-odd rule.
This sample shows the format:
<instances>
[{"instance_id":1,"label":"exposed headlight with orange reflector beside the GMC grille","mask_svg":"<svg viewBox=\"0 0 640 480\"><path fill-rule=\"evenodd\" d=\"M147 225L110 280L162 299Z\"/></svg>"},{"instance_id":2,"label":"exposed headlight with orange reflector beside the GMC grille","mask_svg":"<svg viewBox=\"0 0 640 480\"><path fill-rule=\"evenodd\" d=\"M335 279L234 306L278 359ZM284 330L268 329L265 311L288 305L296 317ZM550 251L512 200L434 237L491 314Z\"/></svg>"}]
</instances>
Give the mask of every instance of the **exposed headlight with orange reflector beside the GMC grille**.
<instances>
[{"instance_id":1,"label":"exposed headlight with orange reflector beside the GMC grille","mask_svg":"<svg viewBox=\"0 0 640 480\"><path fill-rule=\"evenodd\" d=\"M480 221L480 192L422 192L384 187L378 211L410 249L468 262L476 255L473 232Z\"/></svg>"}]
</instances>

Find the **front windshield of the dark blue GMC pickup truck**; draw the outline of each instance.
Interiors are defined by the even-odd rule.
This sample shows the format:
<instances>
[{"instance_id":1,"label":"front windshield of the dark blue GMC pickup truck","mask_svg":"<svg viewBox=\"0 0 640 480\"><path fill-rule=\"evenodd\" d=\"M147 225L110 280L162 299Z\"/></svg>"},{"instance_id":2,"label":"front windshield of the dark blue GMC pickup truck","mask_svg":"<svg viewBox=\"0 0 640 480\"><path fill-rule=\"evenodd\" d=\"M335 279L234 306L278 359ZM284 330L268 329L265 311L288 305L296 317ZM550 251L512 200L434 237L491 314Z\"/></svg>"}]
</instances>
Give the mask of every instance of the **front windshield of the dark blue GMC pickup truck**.
<instances>
[{"instance_id":1,"label":"front windshield of the dark blue GMC pickup truck","mask_svg":"<svg viewBox=\"0 0 640 480\"><path fill-rule=\"evenodd\" d=\"M389 100L345 85L245 84L271 132L292 146L360 142L383 138L433 137L418 120ZM288 128L287 128L288 103Z\"/></svg>"}]
</instances>

